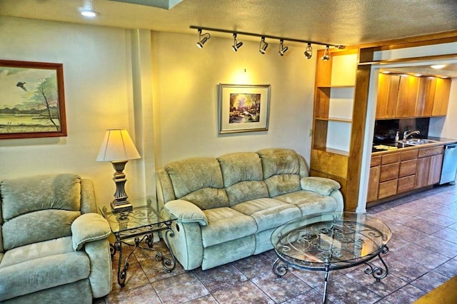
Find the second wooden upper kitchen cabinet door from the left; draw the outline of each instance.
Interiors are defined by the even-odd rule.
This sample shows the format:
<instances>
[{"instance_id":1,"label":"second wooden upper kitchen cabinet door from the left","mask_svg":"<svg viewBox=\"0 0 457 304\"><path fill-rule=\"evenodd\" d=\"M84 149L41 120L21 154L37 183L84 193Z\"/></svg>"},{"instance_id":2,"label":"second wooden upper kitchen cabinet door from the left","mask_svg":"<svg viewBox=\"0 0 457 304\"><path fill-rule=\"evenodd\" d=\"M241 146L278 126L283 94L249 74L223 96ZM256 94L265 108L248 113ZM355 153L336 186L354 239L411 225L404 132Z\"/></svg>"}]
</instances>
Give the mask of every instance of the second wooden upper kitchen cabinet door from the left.
<instances>
[{"instance_id":1,"label":"second wooden upper kitchen cabinet door from the left","mask_svg":"<svg viewBox=\"0 0 457 304\"><path fill-rule=\"evenodd\" d=\"M420 78L400 76L396 117L413 117L416 115L416 101Z\"/></svg>"}]
</instances>

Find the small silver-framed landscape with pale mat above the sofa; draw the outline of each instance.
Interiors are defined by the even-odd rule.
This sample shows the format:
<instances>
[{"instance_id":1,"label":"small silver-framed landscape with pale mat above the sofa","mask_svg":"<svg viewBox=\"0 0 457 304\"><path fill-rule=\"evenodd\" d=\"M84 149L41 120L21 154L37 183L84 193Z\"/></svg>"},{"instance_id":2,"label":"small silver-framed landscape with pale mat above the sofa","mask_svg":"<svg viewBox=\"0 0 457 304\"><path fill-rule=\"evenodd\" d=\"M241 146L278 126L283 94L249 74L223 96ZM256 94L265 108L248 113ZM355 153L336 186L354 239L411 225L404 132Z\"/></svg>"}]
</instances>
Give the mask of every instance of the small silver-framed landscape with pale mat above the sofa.
<instances>
[{"instance_id":1,"label":"small silver-framed landscape with pale mat above the sofa","mask_svg":"<svg viewBox=\"0 0 457 304\"><path fill-rule=\"evenodd\" d=\"M219 134L267 131L270 85L219 83Z\"/></svg>"}]
</instances>

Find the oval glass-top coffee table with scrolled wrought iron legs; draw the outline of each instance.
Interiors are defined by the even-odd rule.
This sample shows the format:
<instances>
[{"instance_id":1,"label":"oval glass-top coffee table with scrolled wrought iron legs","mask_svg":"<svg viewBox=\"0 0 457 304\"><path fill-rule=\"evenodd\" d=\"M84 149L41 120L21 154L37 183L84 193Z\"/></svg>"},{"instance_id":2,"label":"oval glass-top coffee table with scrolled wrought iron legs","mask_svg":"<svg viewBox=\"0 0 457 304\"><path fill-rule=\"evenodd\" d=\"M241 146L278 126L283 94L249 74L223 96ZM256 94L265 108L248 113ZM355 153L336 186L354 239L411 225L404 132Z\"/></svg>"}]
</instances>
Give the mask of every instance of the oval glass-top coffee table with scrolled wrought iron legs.
<instances>
[{"instance_id":1,"label":"oval glass-top coffee table with scrolled wrought iron legs","mask_svg":"<svg viewBox=\"0 0 457 304\"><path fill-rule=\"evenodd\" d=\"M288 267L324 272L322 303L325 303L331 270L366 264L366 274L376 280L386 277L388 268L381 253L388 253L391 235L385 223L365 214L335 212L296 218L271 234L271 243L278 255L273 273L280 278ZM376 257L383 267L369 263Z\"/></svg>"}]
</instances>

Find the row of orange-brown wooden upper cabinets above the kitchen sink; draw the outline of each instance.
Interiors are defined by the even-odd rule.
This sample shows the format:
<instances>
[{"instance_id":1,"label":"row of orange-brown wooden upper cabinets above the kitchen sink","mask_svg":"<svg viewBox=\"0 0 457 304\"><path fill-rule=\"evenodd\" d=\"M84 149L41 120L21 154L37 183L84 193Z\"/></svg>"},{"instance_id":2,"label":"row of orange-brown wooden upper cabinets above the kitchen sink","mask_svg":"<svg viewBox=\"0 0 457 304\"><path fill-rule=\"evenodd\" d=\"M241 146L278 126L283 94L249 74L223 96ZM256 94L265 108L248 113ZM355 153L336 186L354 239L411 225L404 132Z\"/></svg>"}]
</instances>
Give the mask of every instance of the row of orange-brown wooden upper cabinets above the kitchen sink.
<instances>
[{"instance_id":1,"label":"row of orange-brown wooden upper cabinets above the kitchen sink","mask_svg":"<svg viewBox=\"0 0 457 304\"><path fill-rule=\"evenodd\" d=\"M446 116L451 79L379 74L376 119Z\"/></svg>"}]
</instances>

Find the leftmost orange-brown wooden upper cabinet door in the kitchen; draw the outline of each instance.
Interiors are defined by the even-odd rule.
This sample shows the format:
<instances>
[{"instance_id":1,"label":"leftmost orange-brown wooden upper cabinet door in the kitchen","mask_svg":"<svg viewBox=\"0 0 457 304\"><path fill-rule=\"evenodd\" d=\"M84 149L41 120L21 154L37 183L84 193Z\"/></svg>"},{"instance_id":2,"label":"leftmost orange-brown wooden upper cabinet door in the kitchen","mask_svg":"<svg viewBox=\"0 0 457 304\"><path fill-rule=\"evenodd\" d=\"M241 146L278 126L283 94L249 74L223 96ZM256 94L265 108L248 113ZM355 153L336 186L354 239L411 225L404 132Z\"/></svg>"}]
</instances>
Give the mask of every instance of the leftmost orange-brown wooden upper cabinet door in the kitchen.
<instances>
[{"instance_id":1,"label":"leftmost orange-brown wooden upper cabinet door in the kitchen","mask_svg":"<svg viewBox=\"0 0 457 304\"><path fill-rule=\"evenodd\" d=\"M400 76L379 74L376 119L395 117Z\"/></svg>"}]
</instances>

